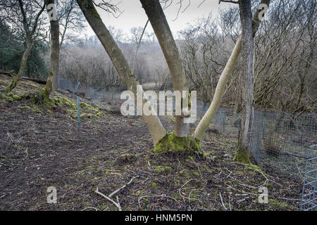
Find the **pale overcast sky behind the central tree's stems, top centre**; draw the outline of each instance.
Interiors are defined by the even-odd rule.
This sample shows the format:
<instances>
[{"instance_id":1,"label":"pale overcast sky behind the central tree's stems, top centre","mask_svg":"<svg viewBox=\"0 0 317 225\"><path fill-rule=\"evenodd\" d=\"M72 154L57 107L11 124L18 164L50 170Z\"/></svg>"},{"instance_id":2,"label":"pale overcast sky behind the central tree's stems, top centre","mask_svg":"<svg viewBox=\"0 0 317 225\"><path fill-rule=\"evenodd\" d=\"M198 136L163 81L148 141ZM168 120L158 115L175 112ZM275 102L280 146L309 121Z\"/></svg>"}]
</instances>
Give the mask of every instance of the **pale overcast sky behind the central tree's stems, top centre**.
<instances>
[{"instance_id":1,"label":"pale overcast sky behind the central tree's stems, top centre","mask_svg":"<svg viewBox=\"0 0 317 225\"><path fill-rule=\"evenodd\" d=\"M195 18L206 17L209 13L213 13L213 15L216 16L219 11L224 8L229 8L230 6L237 7L237 4L229 3L221 3L219 5L218 0L205 0L202 4L201 2L203 0L182 0L182 9L180 10L178 18L175 20L180 6L180 4L177 4L179 1L180 0L173 0L173 4L164 11L168 24L170 25L170 30L172 30L174 35L187 27L187 23L192 23ZM189 4L189 1L190 5L182 12ZM100 8L97 9L107 27L111 25L122 29L123 32L128 34L132 27L144 27L145 23L147 23L147 15L139 0L112 0L111 2L113 4L119 3L118 8L120 8L120 11L123 11L123 13L118 18L114 18L110 13L106 13ZM201 4L201 6L199 6L199 4ZM147 32L153 32L150 24L147 27ZM88 36L94 35L89 25L87 25L87 34Z\"/></svg>"}]
</instances>

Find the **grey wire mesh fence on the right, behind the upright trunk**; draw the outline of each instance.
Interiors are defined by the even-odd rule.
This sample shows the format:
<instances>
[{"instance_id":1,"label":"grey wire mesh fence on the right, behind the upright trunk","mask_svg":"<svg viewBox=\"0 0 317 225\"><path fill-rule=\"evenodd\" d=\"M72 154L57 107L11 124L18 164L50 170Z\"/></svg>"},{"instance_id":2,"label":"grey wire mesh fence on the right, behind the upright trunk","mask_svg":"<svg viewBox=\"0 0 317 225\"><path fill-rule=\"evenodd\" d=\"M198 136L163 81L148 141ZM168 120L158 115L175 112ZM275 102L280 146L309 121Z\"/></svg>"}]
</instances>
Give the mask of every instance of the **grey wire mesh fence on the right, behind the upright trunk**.
<instances>
[{"instance_id":1,"label":"grey wire mesh fence on the right, behind the upright trunk","mask_svg":"<svg viewBox=\"0 0 317 225\"><path fill-rule=\"evenodd\" d=\"M222 134L237 136L240 115L218 110L211 126ZM258 165L304 177L306 150L317 143L316 115L254 111L251 155Z\"/></svg>"}]
</instances>

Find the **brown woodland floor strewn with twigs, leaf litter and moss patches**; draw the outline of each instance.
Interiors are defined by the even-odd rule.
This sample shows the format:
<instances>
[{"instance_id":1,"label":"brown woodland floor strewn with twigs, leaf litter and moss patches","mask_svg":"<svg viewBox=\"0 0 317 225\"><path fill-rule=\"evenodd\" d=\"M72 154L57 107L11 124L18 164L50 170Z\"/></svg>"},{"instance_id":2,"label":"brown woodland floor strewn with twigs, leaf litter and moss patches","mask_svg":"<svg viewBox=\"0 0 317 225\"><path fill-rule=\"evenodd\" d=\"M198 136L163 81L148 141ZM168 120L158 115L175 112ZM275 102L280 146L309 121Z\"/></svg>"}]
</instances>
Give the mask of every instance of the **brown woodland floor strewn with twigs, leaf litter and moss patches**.
<instances>
[{"instance_id":1,"label":"brown woodland floor strewn with twigs, leaf litter and moss patches","mask_svg":"<svg viewBox=\"0 0 317 225\"><path fill-rule=\"evenodd\" d=\"M1 75L0 91L10 79ZM39 86L21 81L13 94ZM118 210L94 191L109 195L134 176L113 196L123 210L298 210L302 182L234 162L234 137L210 131L204 156L154 154L142 118L95 108L77 129L72 110L1 99L0 210ZM258 203L263 185L268 204ZM46 203L49 186L56 204Z\"/></svg>"}]
</instances>

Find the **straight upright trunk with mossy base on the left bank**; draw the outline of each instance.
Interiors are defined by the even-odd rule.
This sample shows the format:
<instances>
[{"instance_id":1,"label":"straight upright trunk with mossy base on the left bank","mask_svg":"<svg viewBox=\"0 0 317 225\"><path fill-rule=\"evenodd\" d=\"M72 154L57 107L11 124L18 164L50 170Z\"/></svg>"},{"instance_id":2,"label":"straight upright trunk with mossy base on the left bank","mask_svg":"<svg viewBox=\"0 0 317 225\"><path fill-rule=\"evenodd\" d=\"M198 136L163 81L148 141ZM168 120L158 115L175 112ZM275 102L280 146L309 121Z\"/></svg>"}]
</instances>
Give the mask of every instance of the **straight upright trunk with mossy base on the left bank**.
<instances>
[{"instance_id":1,"label":"straight upright trunk with mossy base on the left bank","mask_svg":"<svg viewBox=\"0 0 317 225\"><path fill-rule=\"evenodd\" d=\"M55 4L54 0L46 0L47 4ZM48 12L49 13L49 12ZM51 70L45 85L45 93L50 99L54 98L57 89L59 71L59 24L58 20L50 20L51 25Z\"/></svg>"}]
</instances>

